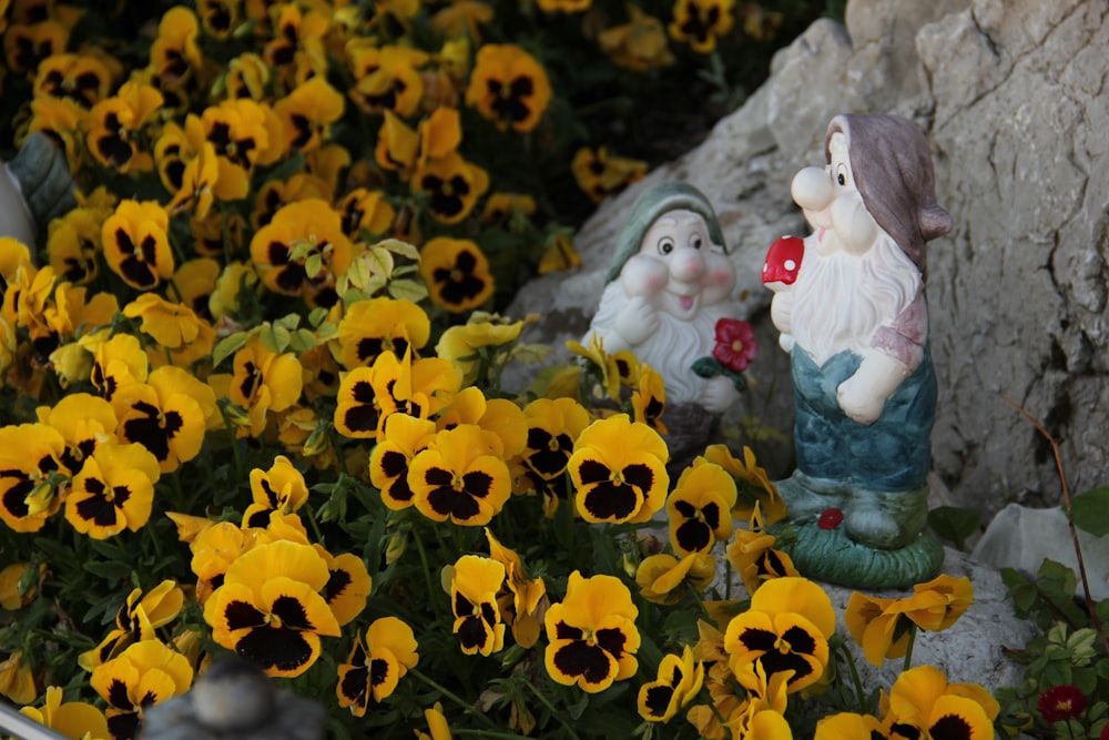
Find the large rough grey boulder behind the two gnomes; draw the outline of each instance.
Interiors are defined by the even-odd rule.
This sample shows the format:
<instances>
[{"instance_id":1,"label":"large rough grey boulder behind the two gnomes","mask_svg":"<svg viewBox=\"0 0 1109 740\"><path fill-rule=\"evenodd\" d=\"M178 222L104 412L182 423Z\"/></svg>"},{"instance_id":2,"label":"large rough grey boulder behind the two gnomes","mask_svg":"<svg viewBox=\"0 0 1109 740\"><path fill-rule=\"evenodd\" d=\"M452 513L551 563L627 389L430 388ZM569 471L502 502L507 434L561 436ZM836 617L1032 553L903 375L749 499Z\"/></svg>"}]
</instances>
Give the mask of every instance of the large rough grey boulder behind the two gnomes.
<instances>
[{"instance_id":1,"label":"large rough grey boulder behind the two gnomes","mask_svg":"<svg viewBox=\"0 0 1109 740\"><path fill-rule=\"evenodd\" d=\"M1006 399L1061 440L1072 490L1107 483L1107 16L1103 0L851 0L846 27L814 23L701 146L650 173L690 182L716 209L741 275L736 300L762 347L752 388L725 420L772 474L790 467L790 442L753 430L787 437L793 399L762 259L776 237L804 233L790 180L823 164L828 119L889 112L928 135L937 200L955 221L928 256L940 385L933 462L950 503L984 520L1014 501L1058 503L1050 445ZM509 313L545 316L528 338L561 347L584 334L639 189L581 229L581 270L521 291Z\"/></svg>"}]
</instances>

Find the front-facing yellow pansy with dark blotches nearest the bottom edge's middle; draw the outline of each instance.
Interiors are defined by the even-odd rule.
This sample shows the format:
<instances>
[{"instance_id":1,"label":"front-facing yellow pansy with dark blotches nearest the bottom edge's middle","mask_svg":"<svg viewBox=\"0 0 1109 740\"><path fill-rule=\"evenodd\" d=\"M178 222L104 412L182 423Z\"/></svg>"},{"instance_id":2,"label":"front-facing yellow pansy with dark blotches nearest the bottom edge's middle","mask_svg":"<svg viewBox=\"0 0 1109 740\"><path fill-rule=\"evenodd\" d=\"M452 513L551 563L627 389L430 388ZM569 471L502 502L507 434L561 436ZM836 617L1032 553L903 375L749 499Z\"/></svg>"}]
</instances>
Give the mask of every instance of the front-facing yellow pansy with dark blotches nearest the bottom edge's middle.
<instances>
[{"instance_id":1,"label":"front-facing yellow pansy with dark blotches nearest the bottom edge's middle","mask_svg":"<svg viewBox=\"0 0 1109 740\"><path fill-rule=\"evenodd\" d=\"M639 609L631 592L614 576L582 578L570 574L566 598L551 605L547 629L547 673L559 683L596 693L639 669L635 628Z\"/></svg>"}]
</instances>

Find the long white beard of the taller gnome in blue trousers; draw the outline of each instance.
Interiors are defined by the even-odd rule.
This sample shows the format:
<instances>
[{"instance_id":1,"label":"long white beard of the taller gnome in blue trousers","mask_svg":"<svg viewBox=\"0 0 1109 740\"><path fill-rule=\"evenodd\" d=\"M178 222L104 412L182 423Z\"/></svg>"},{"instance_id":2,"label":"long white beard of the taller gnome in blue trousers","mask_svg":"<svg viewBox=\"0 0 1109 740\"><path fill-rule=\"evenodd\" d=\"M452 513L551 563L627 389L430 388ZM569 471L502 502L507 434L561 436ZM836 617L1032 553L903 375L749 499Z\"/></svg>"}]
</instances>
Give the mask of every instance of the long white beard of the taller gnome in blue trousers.
<instances>
[{"instance_id":1,"label":"long white beard of the taller gnome in blue trousers","mask_svg":"<svg viewBox=\"0 0 1109 740\"><path fill-rule=\"evenodd\" d=\"M862 354L878 327L893 323L916 297L920 273L889 236L869 252L805 255L791 328L817 366L844 349Z\"/></svg>"}]
</instances>

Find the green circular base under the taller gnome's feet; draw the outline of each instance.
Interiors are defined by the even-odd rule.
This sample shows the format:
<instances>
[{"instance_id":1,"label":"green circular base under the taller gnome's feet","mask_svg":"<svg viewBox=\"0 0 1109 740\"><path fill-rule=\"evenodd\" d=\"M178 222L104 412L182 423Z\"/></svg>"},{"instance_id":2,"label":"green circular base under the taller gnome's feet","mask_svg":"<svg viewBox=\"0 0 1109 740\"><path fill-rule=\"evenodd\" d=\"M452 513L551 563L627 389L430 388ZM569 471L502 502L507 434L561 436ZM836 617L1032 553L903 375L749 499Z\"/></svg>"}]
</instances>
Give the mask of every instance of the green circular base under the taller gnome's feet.
<instances>
[{"instance_id":1,"label":"green circular base under the taller gnome's feet","mask_svg":"<svg viewBox=\"0 0 1109 740\"><path fill-rule=\"evenodd\" d=\"M794 524L797 539L783 547L797 571L813 580L849 588L909 588L932 580L944 565L944 546L930 533L905 547L884 550L852 540L844 527Z\"/></svg>"}]
</instances>

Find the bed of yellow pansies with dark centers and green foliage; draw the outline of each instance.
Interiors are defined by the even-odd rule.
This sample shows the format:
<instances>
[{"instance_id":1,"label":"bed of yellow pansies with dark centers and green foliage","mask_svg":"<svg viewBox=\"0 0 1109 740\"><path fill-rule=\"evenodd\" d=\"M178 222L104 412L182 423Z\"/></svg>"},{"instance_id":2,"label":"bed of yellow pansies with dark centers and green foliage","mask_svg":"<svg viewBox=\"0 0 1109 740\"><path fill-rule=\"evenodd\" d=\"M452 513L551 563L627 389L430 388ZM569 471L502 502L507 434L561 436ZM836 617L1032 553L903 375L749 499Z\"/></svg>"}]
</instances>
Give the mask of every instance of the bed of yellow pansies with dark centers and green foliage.
<instances>
[{"instance_id":1,"label":"bed of yellow pansies with dark centers and green foliage","mask_svg":"<svg viewBox=\"0 0 1109 740\"><path fill-rule=\"evenodd\" d=\"M24 713L132 738L237 652L334 737L978 738L1004 719L910 667L915 631L970 605L965 579L858 595L852 639L906 671L882 702L853 679L828 597L775 549L787 513L754 454L714 445L672 480L665 389L635 357L576 346L501 387L550 348L488 311L576 263L571 193L648 166L568 149L597 125L581 90L657 103L649 82L701 65L723 91L719 49L781 17L0 11L3 125L57 141L78 190L39 244L0 237L0 693ZM596 63L570 75L579 47ZM743 387L750 326L716 339L702 371ZM1101 731L1103 702L1044 696L1044 719Z\"/></svg>"}]
</instances>

